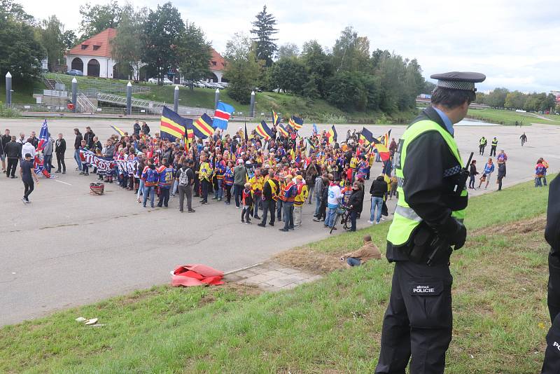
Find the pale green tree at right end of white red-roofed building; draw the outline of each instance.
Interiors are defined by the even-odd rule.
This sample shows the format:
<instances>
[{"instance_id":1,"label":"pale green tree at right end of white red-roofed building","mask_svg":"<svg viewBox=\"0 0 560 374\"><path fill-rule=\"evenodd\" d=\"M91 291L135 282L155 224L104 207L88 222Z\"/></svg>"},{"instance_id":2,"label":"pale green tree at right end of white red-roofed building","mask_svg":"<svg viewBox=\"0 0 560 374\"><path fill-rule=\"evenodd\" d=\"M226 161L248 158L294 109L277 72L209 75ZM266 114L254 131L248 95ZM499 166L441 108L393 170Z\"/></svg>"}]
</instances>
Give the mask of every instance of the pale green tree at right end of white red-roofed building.
<instances>
[{"instance_id":1,"label":"pale green tree at right end of white red-roofed building","mask_svg":"<svg viewBox=\"0 0 560 374\"><path fill-rule=\"evenodd\" d=\"M132 70L134 80L140 78L141 41L147 12L146 8L124 12L117 27L116 36L111 40L111 56L118 62L119 74L127 75Z\"/></svg>"}]
</instances>

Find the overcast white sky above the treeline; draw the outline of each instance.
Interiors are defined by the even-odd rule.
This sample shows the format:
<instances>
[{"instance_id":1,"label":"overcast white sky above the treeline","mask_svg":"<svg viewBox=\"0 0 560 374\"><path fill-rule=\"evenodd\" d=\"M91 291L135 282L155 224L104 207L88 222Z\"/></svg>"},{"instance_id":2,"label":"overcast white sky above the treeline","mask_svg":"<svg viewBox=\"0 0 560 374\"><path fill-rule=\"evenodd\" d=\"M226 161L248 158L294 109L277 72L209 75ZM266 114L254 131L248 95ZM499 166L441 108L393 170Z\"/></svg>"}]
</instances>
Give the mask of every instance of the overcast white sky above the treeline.
<instances>
[{"instance_id":1,"label":"overcast white sky above the treeline","mask_svg":"<svg viewBox=\"0 0 560 374\"><path fill-rule=\"evenodd\" d=\"M18 1L18 0L16 0ZM78 31L80 1L20 0L27 13L46 18L55 13L66 29ZM102 2L102 1L99 1ZM97 1L92 1L97 4ZM120 1L121 4L124 1ZM163 1L136 0L156 8ZM388 49L416 58L423 75L444 71L479 71L479 90L560 90L560 1L247 1L174 0L183 19L202 26L218 52L235 32L248 32L267 4L276 16L278 45L316 39L332 48L344 27L370 39L370 50Z\"/></svg>"}]
</instances>

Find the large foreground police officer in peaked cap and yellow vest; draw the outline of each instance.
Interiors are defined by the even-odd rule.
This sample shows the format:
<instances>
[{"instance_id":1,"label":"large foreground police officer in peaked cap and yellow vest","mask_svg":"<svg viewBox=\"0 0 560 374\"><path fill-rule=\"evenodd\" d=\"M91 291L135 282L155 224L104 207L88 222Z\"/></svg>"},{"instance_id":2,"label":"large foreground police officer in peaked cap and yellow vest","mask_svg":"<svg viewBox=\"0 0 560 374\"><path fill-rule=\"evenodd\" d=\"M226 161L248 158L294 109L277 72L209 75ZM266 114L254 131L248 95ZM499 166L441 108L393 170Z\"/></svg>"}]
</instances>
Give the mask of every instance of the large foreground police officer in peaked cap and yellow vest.
<instances>
[{"instance_id":1,"label":"large foreground police officer in peaked cap and yellow vest","mask_svg":"<svg viewBox=\"0 0 560 374\"><path fill-rule=\"evenodd\" d=\"M387 235L387 259L395 262L391 298L381 333L375 373L443 373L451 342L451 247L463 247L468 172L453 124L475 100L479 73L435 74L431 106L400 138L393 163L398 202Z\"/></svg>"}]
</instances>

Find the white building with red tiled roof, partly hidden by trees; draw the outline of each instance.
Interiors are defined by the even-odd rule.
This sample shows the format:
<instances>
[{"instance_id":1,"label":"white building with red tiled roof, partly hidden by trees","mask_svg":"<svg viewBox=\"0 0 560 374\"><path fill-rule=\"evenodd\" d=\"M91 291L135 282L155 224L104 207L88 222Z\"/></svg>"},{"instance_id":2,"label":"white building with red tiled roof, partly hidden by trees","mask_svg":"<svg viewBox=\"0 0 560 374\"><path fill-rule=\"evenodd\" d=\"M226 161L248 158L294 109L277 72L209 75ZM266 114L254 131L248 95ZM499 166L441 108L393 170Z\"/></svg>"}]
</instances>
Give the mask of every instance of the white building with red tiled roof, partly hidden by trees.
<instances>
[{"instance_id":1,"label":"white building with red tiled roof, partly hidden by trees","mask_svg":"<svg viewBox=\"0 0 560 374\"><path fill-rule=\"evenodd\" d=\"M116 34L116 29L106 29L71 48L66 53L67 68L81 70L85 76L116 78L118 62L111 56L111 40ZM208 79L221 83L226 64L224 58L212 48Z\"/></svg>"}]
</instances>

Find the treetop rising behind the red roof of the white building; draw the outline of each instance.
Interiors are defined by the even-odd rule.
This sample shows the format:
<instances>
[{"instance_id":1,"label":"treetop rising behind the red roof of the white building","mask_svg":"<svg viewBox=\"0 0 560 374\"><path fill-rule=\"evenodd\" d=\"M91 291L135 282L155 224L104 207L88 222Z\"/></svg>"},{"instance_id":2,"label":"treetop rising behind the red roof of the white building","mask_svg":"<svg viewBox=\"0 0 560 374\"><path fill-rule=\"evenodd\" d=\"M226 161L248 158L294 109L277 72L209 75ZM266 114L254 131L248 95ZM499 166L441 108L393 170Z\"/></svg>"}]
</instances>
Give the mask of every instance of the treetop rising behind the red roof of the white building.
<instances>
[{"instance_id":1,"label":"treetop rising behind the red roof of the white building","mask_svg":"<svg viewBox=\"0 0 560 374\"><path fill-rule=\"evenodd\" d=\"M118 5L117 0L112 0L109 4L94 5L85 3L80 6L80 30L82 32L81 39L91 38L95 34L99 34L109 27L116 29L123 19L123 13L130 12L131 5L127 4L123 7Z\"/></svg>"}]
</instances>

